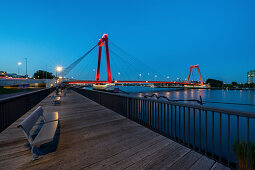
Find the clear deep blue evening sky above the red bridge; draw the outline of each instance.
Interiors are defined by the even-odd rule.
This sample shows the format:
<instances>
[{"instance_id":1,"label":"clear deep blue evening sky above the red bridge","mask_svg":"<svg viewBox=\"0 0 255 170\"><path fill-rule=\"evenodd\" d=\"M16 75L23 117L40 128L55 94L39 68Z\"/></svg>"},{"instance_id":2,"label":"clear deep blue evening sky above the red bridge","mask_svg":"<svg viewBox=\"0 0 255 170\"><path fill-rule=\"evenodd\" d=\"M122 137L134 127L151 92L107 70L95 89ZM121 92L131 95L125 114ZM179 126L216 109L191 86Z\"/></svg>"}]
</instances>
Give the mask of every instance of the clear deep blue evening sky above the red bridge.
<instances>
[{"instance_id":1,"label":"clear deep blue evening sky above the red bridge","mask_svg":"<svg viewBox=\"0 0 255 170\"><path fill-rule=\"evenodd\" d=\"M21 61L24 74L27 57L29 75L46 65L54 72L107 33L172 80L199 64L204 79L246 82L255 69L254 7L254 0L2 0L0 70L17 72Z\"/></svg>"}]
</instances>

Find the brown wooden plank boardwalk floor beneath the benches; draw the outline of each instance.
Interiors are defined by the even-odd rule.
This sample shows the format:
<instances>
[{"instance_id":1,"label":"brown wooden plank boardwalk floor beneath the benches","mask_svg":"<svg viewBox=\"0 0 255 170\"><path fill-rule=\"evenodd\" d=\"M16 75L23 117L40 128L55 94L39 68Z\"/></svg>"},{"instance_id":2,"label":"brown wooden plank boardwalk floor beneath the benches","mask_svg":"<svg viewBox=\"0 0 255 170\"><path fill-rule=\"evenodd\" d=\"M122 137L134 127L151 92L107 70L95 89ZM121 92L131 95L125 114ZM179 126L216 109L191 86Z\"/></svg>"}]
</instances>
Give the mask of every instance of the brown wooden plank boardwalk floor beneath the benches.
<instances>
[{"instance_id":1,"label":"brown wooden plank boardwalk floor beneath the benches","mask_svg":"<svg viewBox=\"0 0 255 170\"><path fill-rule=\"evenodd\" d=\"M59 112L54 142L31 161L21 129L31 111ZM47 97L0 134L0 169L228 169L150 129L77 94L53 106Z\"/></svg>"}]
</instances>

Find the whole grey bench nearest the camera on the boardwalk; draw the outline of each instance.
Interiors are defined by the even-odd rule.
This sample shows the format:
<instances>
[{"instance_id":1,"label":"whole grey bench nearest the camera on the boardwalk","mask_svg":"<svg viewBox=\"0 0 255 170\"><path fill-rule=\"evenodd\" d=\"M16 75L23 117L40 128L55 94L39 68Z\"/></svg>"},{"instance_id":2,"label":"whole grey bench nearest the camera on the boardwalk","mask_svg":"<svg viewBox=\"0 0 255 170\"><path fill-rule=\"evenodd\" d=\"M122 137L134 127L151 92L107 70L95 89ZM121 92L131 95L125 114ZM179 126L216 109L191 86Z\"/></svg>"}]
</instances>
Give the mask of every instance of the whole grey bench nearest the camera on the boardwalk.
<instances>
[{"instance_id":1,"label":"whole grey bench nearest the camera on the boardwalk","mask_svg":"<svg viewBox=\"0 0 255 170\"><path fill-rule=\"evenodd\" d=\"M33 127L35 127L35 125L38 125L36 124L38 120L43 120L43 126L41 127L38 134L36 134L36 137L32 138L33 132L31 132L31 130L33 129ZM43 109L41 106L34 110L18 125L18 128L21 128L23 130L28 142L32 147L32 160L39 157L40 153L37 149L37 146L53 140L57 125L58 112L43 113Z\"/></svg>"}]
</instances>

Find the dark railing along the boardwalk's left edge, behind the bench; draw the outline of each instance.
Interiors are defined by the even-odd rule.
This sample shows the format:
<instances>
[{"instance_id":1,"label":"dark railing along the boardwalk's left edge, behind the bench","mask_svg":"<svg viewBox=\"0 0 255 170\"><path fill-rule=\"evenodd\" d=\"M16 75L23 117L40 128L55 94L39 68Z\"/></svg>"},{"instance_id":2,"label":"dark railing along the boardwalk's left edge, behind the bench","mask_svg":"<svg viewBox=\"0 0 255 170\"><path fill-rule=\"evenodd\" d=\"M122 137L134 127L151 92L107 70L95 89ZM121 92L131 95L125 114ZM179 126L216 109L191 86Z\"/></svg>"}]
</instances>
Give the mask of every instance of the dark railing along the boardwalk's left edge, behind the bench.
<instances>
[{"instance_id":1,"label":"dark railing along the boardwalk's left edge, behind the bench","mask_svg":"<svg viewBox=\"0 0 255 170\"><path fill-rule=\"evenodd\" d=\"M36 90L0 99L0 133L47 97L54 88Z\"/></svg>"}]
</instances>

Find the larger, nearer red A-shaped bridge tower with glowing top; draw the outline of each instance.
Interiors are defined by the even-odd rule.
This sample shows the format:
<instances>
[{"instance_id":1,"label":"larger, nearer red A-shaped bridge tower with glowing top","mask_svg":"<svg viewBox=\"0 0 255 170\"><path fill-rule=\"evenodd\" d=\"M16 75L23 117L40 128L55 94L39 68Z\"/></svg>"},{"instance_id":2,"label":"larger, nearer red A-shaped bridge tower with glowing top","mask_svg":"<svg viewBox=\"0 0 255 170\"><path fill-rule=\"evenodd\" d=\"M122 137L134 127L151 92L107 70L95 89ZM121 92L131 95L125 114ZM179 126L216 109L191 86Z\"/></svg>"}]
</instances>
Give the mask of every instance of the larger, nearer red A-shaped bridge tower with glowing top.
<instances>
[{"instance_id":1,"label":"larger, nearer red A-shaped bridge tower with glowing top","mask_svg":"<svg viewBox=\"0 0 255 170\"><path fill-rule=\"evenodd\" d=\"M111 78L111 67L110 67L110 58L109 58L109 48L108 48L108 36L104 34L98 42L98 61L97 61L97 72L96 72L96 81L99 80L99 72L100 72L100 63L101 63L101 52L102 46L105 46L105 57L106 57L106 65L107 65L107 83L112 82Z\"/></svg>"}]
</instances>

